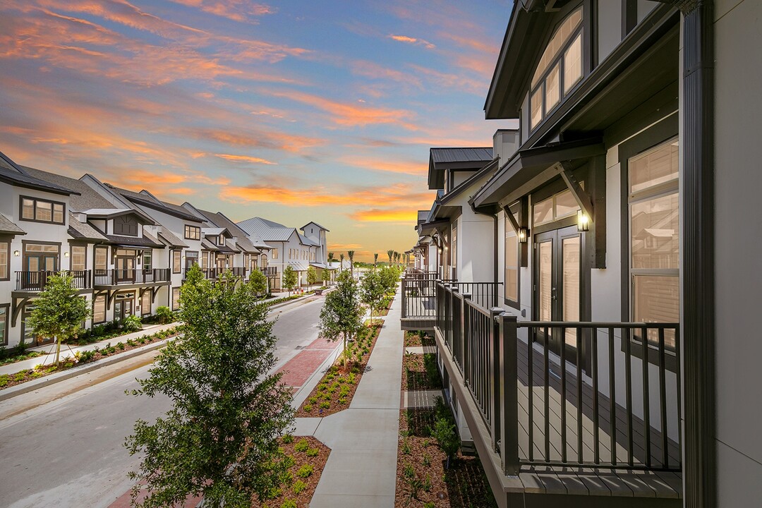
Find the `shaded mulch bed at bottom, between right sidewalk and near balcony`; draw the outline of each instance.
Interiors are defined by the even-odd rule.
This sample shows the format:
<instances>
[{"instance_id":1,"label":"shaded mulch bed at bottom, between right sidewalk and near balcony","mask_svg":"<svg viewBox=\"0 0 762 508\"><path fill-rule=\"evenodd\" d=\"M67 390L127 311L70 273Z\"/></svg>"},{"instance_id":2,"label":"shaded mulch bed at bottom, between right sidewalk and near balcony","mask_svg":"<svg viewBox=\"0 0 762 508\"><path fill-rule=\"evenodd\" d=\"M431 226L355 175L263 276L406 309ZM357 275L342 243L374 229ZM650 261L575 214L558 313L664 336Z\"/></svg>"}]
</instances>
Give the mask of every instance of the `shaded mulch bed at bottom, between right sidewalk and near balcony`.
<instances>
[{"instance_id":1,"label":"shaded mulch bed at bottom, between right sidewalk and near balcony","mask_svg":"<svg viewBox=\"0 0 762 508\"><path fill-rule=\"evenodd\" d=\"M433 426L434 409L400 412L395 508L497 506L479 458L458 453L445 469L447 457L429 436Z\"/></svg>"}]
</instances>

